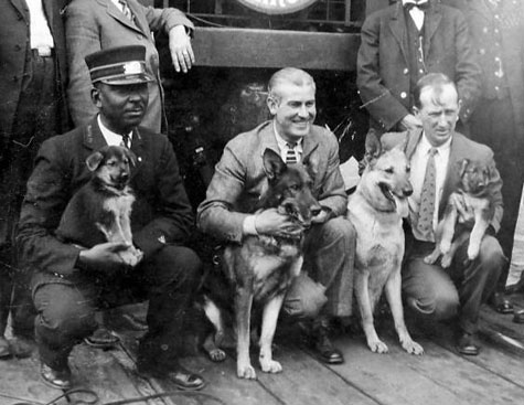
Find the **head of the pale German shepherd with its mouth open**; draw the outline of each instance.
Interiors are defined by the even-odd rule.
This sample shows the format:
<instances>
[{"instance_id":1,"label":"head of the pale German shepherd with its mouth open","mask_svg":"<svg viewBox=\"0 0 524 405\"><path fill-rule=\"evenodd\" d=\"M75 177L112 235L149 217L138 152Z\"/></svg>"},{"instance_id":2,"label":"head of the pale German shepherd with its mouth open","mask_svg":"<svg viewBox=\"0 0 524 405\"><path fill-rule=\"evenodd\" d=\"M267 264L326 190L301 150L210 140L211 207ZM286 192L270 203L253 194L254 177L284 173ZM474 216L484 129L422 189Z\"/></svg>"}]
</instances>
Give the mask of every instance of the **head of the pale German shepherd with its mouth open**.
<instances>
[{"instance_id":1,"label":"head of the pale German shepherd with its mouth open","mask_svg":"<svg viewBox=\"0 0 524 405\"><path fill-rule=\"evenodd\" d=\"M402 146L382 150L379 141L366 142L366 167L360 190L378 211L408 215L407 198L413 193L410 167Z\"/></svg>"}]
</instances>

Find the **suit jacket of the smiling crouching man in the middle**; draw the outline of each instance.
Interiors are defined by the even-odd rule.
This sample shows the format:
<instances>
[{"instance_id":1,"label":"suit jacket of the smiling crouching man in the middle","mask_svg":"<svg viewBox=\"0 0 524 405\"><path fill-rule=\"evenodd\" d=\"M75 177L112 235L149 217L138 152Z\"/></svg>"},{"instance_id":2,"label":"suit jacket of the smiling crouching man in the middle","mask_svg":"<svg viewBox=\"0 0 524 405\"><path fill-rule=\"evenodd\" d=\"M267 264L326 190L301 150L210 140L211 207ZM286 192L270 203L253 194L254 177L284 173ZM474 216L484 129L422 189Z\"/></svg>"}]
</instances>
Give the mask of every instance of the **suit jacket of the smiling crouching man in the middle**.
<instances>
[{"instance_id":1,"label":"suit jacket of the smiling crouching man in the middle","mask_svg":"<svg viewBox=\"0 0 524 405\"><path fill-rule=\"evenodd\" d=\"M280 154L272 120L232 139L216 164L206 199L197 210L200 228L220 239L240 242L243 223L253 214L268 183L263 154L266 148ZM312 126L303 138L302 160L309 161L313 195L334 215L346 210L347 198L339 169L339 143L327 129Z\"/></svg>"}]
</instances>

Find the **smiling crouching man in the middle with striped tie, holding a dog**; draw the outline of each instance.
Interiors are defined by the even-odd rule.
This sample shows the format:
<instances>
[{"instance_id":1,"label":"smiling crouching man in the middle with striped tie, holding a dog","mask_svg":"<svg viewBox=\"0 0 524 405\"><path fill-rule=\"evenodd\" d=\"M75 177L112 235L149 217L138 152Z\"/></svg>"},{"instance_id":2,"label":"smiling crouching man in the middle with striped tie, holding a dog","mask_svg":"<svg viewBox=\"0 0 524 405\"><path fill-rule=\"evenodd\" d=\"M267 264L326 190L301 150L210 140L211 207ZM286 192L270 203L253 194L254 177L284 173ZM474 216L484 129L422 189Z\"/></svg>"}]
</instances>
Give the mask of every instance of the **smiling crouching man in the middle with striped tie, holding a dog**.
<instances>
[{"instance_id":1,"label":"smiling crouching man in the middle with striped tie, holding a dog","mask_svg":"<svg viewBox=\"0 0 524 405\"><path fill-rule=\"evenodd\" d=\"M307 232L302 274L291 286L284 311L312 319L318 356L327 363L342 363L342 353L328 338L328 327L330 317L351 315L355 234L341 216L347 201L339 146L333 134L313 125L316 86L308 73L280 70L270 78L268 92L274 119L226 145L196 222L203 232L229 243L240 243L245 235L286 234L290 228L286 215L276 210L255 214L267 190L263 153L269 148L285 161L291 154L292 161L304 162L313 173L312 192L322 211Z\"/></svg>"}]
</instances>

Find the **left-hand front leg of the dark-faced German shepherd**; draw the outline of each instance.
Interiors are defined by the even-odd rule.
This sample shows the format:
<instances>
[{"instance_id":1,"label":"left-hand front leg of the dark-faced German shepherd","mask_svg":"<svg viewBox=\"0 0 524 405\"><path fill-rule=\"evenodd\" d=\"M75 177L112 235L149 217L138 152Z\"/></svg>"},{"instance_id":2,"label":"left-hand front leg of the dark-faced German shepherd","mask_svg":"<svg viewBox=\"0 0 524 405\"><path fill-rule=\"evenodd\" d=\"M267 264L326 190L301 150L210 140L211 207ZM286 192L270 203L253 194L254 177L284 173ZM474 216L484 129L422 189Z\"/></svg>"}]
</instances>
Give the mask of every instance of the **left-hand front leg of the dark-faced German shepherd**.
<instances>
[{"instance_id":1,"label":"left-hand front leg of the dark-faced German shepherd","mask_svg":"<svg viewBox=\"0 0 524 405\"><path fill-rule=\"evenodd\" d=\"M235 315L237 327L236 374L239 379L255 380L257 374L249 359L249 322L252 316L253 292L246 287L238 287L235 296Z\"/></svg>"}]
</instances>

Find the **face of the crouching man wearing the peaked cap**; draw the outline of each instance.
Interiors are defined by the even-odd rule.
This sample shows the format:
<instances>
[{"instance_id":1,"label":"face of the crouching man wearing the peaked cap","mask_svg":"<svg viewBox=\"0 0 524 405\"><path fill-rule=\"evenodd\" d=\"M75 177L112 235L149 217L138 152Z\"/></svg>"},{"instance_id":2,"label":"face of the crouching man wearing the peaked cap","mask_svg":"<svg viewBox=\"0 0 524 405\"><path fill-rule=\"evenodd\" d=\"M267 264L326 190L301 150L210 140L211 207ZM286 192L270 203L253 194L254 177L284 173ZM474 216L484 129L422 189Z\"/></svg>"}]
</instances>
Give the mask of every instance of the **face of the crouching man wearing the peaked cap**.
<instances>
[{"instance_id":1,"label":"face of the crouching man wearing the peaked cap","mask_svg":"<svg viewBox=\"0 0 524 405\"><path fill-rule=\"evenodd\" d=\"M92 98L100 111L104 125L117 134L129 134L146 114L149 102L147 83L113 86L97 84Z\"/></svg>"}]
</instances>

